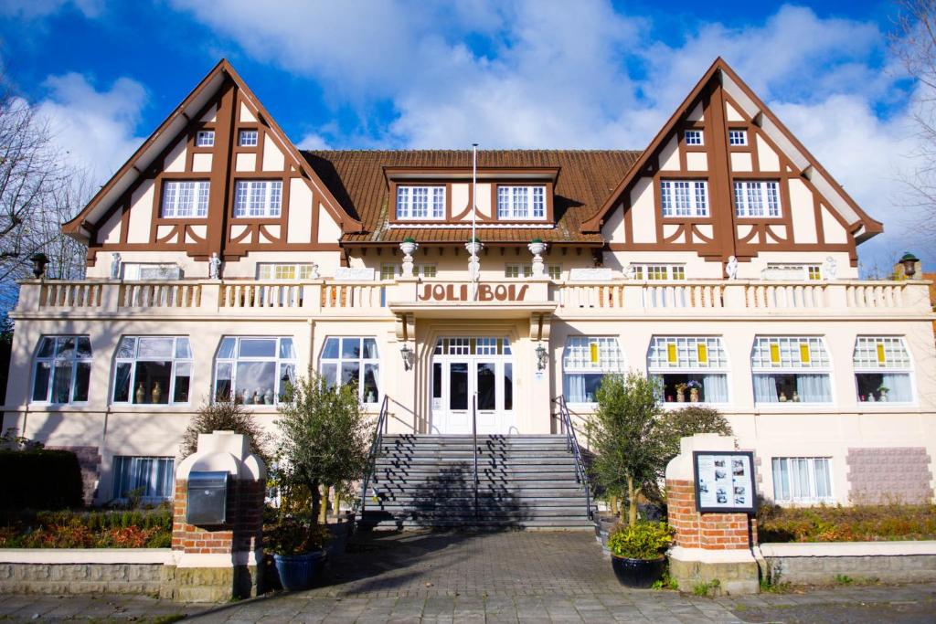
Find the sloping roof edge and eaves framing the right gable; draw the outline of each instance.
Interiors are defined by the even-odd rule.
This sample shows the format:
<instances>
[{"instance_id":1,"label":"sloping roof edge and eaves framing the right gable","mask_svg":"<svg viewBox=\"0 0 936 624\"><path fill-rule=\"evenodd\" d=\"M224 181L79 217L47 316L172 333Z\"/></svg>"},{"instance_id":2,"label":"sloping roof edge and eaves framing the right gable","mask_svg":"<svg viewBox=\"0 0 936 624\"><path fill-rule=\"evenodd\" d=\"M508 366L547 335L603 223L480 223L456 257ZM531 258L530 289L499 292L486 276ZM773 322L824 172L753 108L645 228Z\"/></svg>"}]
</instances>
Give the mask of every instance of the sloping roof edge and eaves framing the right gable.
<instances>
[{"instance_id":1,"label":"sloping roof edge and eaves framing the right gable","mask_svg":"<svg viewBox=\"0 0 936 624\"><path fill-rule=\"evenodd\" d=\"M651 140L647 149L636 159L626 175L614 188L614 191L607 196L601 207L584 220L582 224L584 231L600 231L602 221L607 213L621 201L622 193L636 179L639 172L644 170L653 154L663 146L664 141L673 133L680 119L689 114L695 101L711 80L720 80L724 91L731 95L743 109L742 111L753 119L761 130L784 152L786 157L799 167L802 175L812 182L812 185L816 187L822 196L826 197L826 201L830 204L829 208L838 212L845 223L849 225L849 231L855 236L857 242L870 239L875 234L884 231L883 225L871 219L864 210L858 207L855 200L826 172L826 169L819 164L819 161L815 159L812 153L803 147L802 143L768 109L767 105L753 93L751 88L739 78L738 74L724 62L722 57L715 59L715 62L702 76L702 79L695 84L689 95L682 100L679 108Z\"/></svg>"}]
</instances>

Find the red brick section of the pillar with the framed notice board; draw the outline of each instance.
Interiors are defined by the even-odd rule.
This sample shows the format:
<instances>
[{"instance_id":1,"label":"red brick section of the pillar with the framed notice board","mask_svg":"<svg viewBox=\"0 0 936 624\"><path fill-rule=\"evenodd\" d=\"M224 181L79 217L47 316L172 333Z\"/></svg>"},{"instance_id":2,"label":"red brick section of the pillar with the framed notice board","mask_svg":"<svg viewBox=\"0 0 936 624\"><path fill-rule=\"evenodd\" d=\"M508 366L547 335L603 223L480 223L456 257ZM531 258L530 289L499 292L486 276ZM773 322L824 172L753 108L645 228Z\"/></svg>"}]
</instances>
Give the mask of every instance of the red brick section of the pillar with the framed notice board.
<instances>
[{"instance_id":1,"label":"red brick section of the pillar with the framed notice board","mask_svg":"<svg viewBox=\"0 0 936 624\"><path fill-rule=\"evenodd\" d=\"M747 514L699 514L695 484L666 479L666 512L684 548L731 550L757 544L757 521Z\"/></svg>"}]
</instances>

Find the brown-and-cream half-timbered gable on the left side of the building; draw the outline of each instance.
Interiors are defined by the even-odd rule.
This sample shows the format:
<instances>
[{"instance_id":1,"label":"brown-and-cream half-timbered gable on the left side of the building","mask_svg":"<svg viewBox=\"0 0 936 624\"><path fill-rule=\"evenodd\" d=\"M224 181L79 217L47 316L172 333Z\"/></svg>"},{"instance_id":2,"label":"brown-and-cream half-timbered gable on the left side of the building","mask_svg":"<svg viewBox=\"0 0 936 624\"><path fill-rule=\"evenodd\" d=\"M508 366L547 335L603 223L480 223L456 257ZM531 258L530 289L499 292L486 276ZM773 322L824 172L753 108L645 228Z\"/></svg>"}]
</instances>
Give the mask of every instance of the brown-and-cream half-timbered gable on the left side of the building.
<instances>
[{"instance_id":1,"label":"brown-and-cream half-timbered gable on the left side of the building","mask_svg":"<svg viewBox=\"0 0 936 624\"><path fill-rule=\"evenodd\" d=\"M111 252L191 277L218 254L228 277L255 277L268 254L337 266L359 224L222 61L65 229L87 241L90 275Z\"/></svg>"}]
</instances>

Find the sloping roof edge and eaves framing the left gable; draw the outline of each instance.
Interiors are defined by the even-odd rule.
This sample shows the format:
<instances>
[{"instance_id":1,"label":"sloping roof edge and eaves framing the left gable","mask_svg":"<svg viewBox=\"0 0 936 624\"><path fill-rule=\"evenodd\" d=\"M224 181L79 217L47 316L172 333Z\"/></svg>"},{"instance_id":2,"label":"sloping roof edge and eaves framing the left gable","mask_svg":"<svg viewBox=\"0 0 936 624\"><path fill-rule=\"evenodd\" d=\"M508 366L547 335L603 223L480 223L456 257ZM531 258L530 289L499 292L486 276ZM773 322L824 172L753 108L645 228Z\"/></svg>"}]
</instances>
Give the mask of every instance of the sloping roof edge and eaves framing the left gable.
<instances>
[{"instance_id":1,"label":"sloping roof edge and eaves framing the left gable","mask_svg":"<svg viewBox=\"0 0 936 624\"><path fill-rule=\"evenodd\" d=\"M196 118L197 112L211 101L227 79L234 81L241 94L259 111L261 121L267 123L271 131L282 140L287 152L287 162L291 159L293 165L298 167L305 176L318 186L325 204L336 218L336 221L342 225L343 231L358 231L360 222L342 210L341 204L331 195L328 187L318 179L314 169L309 166L299 150L296 149L271 114L241 79L234 67L227 62L227 59L221 59L217 65L212 67L208 75L198 82L195 89L185 96L185 99L178 107L169 113L163 123L160 123L159 127L150 135L150 138L147 138L139 146L139 149L130 156L124 166L92 197L88 205L74 219L62 225L62 230L70 236L86 241L91 234L92 225L97 225L101 216L110 208L113 202L117 201L139 179L144 171L153 166L158 155L179 137L190 121Z\"/></svg>"}]
</instances>

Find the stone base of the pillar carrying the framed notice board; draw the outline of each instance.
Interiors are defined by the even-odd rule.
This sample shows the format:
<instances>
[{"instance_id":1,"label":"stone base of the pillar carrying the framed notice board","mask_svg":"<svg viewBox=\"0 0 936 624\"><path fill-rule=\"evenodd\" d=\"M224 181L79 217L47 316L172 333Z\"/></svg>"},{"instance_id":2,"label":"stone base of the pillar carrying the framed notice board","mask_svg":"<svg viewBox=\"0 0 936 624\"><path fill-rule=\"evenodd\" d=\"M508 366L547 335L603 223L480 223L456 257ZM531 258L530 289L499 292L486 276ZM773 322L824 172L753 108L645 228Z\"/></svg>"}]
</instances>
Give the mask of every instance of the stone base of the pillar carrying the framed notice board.
<instances>
[{"instance_id":1,"label":"stone base of the pillar carrying the framed notice board","mask_svg":"<svg viewBox=\"0 0 936 624\"><path fill-rule=\"evenodd\" d=\"M760 591L757 561L750 550L712 550L673 548L669 555L669 576L680 591L693 591L708 585L713 595L756 594ZM717 585L713 584L718 581Z\"/></svg>"}]
</instances>

